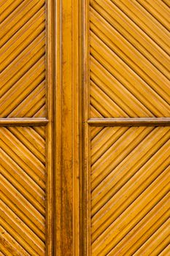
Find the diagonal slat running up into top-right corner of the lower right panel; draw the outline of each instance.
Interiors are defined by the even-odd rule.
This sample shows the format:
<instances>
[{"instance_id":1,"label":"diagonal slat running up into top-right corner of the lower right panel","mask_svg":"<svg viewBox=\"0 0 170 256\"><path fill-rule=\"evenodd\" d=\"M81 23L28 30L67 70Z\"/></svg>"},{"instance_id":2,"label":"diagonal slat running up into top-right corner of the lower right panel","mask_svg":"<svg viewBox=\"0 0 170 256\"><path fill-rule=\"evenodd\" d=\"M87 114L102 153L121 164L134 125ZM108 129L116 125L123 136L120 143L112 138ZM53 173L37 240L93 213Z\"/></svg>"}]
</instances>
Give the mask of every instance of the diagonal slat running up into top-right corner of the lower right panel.
<instances>
[{"instance_id":1,"label":"diagonal slat running up into top-right corner of the lower right panel","mask_svg":"<svg viewBox=\"0 0 170 256\"><path fill-rule=\"evenodd\" d=\"M145 163L152 154L158 151L158 148L166 141L169 135L163 136L161 132L150 132L152 129L148 129L147 131L143 132L142 138L139 138L139 144L136 146L130 154L128 154L123 161L117 165L117 167L112 166L112 172L104 178L104 180L93 190L93 200L92 200L92 211L97 211L99 206L102 206L102 202L107 202L115 193L123 187L123 184L128 181L129 178L135 175L139 168ZM159 135L160 133L160 135ZM154 143L150 144L150 140L155 139ZM160 141L161 139L161 141ZM134 166L128 164L128 162L134 160ZM125 169L124 172L121 171ZM113 183L114 181L114 183ZM96 208L96 203L98 203Z\"/></svg>"}]
</instances>

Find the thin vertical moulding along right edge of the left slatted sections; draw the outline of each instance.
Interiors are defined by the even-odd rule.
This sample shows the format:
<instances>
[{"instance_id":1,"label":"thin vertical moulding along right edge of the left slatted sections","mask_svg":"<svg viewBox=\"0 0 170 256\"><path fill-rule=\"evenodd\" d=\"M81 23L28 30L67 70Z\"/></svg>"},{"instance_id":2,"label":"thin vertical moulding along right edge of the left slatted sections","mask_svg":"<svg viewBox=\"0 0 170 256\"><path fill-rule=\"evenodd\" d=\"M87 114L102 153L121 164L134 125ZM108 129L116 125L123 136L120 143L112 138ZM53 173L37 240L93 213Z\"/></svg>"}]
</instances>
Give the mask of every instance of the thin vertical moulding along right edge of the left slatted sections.
<instances>
[{"instance_id":1,"label":"thin vertical moulding along right edge of the left slatted sections","mask_svg":"<svg viewBox=\"0 0 170 256\"><path fill-rule=\"evenodd\" d=\"M55 243L54 241L54 162L55 162L55 150L54 150L54 65L55 65L55 57L54 57L54 43L55 43L55 1L50 0L46 1L46 61L45 61L45 102L46 105L43 107L44 110L47 111L47 127L45 129L45 140L46 140L46 232L45 232L45 255L53 255ZM42 108L41 110L42 111ZM37 118L37 116L36 116ZM36 129L42 129L42 127L36 127Z\"/></svg>"}]
</instances>

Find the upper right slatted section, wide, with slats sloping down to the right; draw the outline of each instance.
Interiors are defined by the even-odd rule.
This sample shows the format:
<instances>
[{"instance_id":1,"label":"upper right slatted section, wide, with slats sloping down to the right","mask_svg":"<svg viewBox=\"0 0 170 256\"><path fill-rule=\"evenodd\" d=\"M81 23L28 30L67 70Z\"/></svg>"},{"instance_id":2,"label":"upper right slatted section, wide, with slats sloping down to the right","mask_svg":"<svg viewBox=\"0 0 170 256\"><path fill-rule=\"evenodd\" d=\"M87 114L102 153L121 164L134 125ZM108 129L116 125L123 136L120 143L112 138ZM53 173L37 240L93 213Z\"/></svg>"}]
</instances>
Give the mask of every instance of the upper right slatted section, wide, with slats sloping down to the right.
<instances>
[{"instance_id":1,"label":"upper right slatted section, wide, with slats sloping down to the right","mask_svg":"<svg viewBox=\"0 0 170 256\"><path fill-rule=\"evenodd\" d=\"M165 1L90 0L90 116L170 116Z\"/></svg>"}]
</instances>

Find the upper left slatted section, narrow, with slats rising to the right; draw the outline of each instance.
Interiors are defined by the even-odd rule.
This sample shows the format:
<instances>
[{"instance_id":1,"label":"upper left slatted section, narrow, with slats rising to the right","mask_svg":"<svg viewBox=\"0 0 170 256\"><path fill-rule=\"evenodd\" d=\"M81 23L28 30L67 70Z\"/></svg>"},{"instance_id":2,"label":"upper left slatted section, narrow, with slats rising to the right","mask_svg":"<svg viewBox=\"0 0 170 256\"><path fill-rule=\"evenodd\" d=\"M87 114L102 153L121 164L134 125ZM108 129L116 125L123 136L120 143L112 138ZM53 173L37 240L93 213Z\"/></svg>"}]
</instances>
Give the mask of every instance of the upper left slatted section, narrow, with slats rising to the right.
<instances>
[{"instance_id":1,"label":"upper left slatted section, narrow, with slats rising to the right","mask_svg":"<svg viewBox=\"0 0 170 256\"><path fill-rule=\"evenodd\" d=\"M0 117L45 117L45 0L0 8Z\"/></svg>"}]
</instances>

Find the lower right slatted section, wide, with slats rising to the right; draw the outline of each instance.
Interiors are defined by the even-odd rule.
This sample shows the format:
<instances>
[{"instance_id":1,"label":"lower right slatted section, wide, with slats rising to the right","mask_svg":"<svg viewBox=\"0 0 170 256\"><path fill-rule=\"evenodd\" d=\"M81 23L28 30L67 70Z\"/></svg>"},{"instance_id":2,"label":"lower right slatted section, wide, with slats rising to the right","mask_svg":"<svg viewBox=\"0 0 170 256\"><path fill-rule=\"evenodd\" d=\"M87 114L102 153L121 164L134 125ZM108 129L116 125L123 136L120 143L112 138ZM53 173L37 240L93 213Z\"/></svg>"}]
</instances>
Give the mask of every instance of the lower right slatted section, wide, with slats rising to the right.
<instances>
[{"instance_id":1,"label":"lower right slatted section, wide, with slats rising to the right","mask_svg":"<svg viewBox=\"0 0 170 256\"><path fill-rule=\"evenodd\" d=\"M170 127L91 132L92 255L169 255Z\"/></svg>"}]
</instances>

